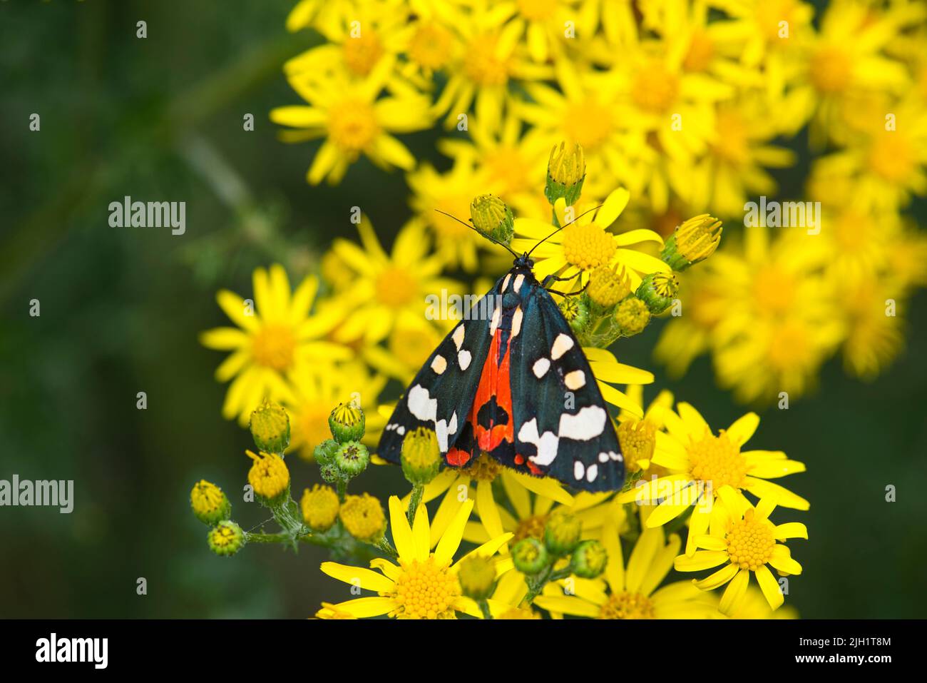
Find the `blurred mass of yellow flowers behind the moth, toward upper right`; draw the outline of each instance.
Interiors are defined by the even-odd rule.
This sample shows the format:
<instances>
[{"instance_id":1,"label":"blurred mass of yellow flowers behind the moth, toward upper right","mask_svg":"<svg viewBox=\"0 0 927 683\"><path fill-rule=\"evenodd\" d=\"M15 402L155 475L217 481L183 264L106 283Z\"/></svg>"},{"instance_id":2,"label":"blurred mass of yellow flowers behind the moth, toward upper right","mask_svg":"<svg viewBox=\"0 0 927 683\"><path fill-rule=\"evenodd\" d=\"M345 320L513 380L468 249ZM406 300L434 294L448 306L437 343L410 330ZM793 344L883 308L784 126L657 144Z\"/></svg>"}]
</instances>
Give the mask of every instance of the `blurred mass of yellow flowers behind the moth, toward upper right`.
<instances>
[{"instance_id":1,"label":"blurred mass of yellow flowers behind the moth, toward upper right","mask_svg":"<svg viewBox=\"0 0 927 683\"><path fill-rule=\"evenodd\" d=\"M718 383L745 402L806 392L838 353L869 379L903 347L905 304L927 283L927 238L903 213L927 191L921 3L834 0L816 17L803 0L300 0L287 28L322 40L286 63L303 103L271 114L287 142L322 138L309 182L340 182L364 156L405 173L412 190L400 251L387 256L362 226L365 260L341 245L323 271L332 287L374 300L343 341L386 340L399 325L393 353L372 354L387 374L418 367L421 349L404 340L427 349L436 336L384 311L436 284L434 264L411 258L424 257L413 243L431 238L444 264L499 274L490 245L446 215L466 215L473 187L522 216L516 248L543 237L552 197L573 215L603 205L542 245L539 276L620 264L632 290L655 270L651 248L687 216L743 219L724 258L679 278L688 306L656 356L679 375L710 353ZM446 172L400 140L442 123ZM806 138L812 203L768 212L766 200L779 203L775 176L805 156L783 142ZM565 190L580 161L583 204ZM615 187L633 201L624 225L609 228L628 202ZM354 264L376 277L355 282ZM401 289L383 291L398 277ZM623 285L598 290L614 297ZM623 314L631 326L644 316L631 304Z\"/></svg>"}]
</instances>

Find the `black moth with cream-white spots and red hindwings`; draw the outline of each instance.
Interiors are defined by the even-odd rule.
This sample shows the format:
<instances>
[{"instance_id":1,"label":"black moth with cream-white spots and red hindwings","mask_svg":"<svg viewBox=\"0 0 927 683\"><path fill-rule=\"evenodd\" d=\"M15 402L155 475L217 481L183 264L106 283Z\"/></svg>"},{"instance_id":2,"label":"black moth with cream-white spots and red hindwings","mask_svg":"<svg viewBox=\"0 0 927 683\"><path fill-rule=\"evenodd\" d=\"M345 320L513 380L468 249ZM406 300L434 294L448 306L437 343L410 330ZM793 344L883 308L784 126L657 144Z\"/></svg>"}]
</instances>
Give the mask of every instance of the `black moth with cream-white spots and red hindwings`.
<instances>
[{"instance_id":1,"label":"black moth with cream-white spots and red hindwings","mask_svg":"<svg viewBox=\"0 0 927 683\"><path fill-rule=\"evenodd\" d=\"M479 315L476 315L479 314ZM482 453L587 491L624 482L624 460L585 354L521 259L438 345L400 398L379 455L400 462L428 427L451 467Z\"/></svg>"}]
</instances>

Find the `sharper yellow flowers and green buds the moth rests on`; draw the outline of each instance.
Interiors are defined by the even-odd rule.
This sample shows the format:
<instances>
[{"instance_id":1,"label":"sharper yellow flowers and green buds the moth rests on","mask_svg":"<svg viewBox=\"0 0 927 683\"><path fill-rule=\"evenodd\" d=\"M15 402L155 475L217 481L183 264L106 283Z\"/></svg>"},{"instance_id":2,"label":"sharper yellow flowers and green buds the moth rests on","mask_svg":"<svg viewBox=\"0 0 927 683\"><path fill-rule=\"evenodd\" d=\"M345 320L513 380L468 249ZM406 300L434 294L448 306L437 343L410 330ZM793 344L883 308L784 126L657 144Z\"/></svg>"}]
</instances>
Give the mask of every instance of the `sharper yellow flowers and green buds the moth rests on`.
<instances>
[{"instance_id":1,"label":"sharper yellow flowers and green buds the moth rests on","mask_svg":"<svg viewBox=\"0 0 927 683\"><path fill-rule=\"evenodd\" d=\"M363 247L337 241L325 257L356 269L350 283L329 280L330 288L313 302L301 292L310 288L314 295L314 279L291 296L279 266L270 276L259 270L257 311L233 318L242 329L204 334L205 343L219 348L232 347L216 339L240 342L230 359L242 354L244 360L229 395L235 396L230 400L236 412L248 402L256 406L249 425L260 453L248 452L253 460L248 482L281 527L276 533L251 533L235 525L235 546L226 540L234 525L226 504L203 490L211 484L200 483L193 493L197 516L213 524L219 520L210 532L210 548L217 554L230 554L244 542L329 548L349 563L326 561L322 571L349 584L354 596L362 590L372 594L326 602L316 612L320 618L767 617L777 610L788 592L787 576L801 573L783 541L806 538L806 531L801 523L777 525L769 518L777 506L805 510L808 503L769 480L803 471L804 465L778 451L743 449L759 421L753 413L716 433L689 404L674 409L667 392L645 408L642 385L654 376L619 363L606 348L679 305L677 275L711 263L720 222L696 215L666 240L647 230L613 232L629 192L615 189L600 205L577 213L586 178L584 150L559 146L549 158L544 188L548 222L516 217L494 195L471 200L470 213L475 234L488 243L520 251L538 243L548 248L535 251L534 267L552 283L603 398L616 408L615 428L629 475L623 491L577 494L553 479L510 470L487 454L463 468L447 467L436 433L419 428L403 434L401 470L411 490L389 498L388 521L375 496L348 493L349 483L369 463L383 462L365 445L375 443L383 430L381 413L391 409L380 405L386 400L383 382L409 380L438 343L433 338L446 322L440 316L427 319L423 294L451 267L438 253L425 251L419 233L409 237L415 228L400 233L394 255L387 255L362 221ZM650 252L633 248L639 242L652 244ZM400 254L401 268L392 263ZM414 269L423 264L429 264L430 280L414 282ZM265 277L275 282L273 294ZM220 295L230 316L232 296ZM246 309L253 305L236 298L239 302ZM368 314L362 325L356 322L359 311ZM456 319L451 316L451 324ZM412 327L404 334L405 325ZM293 348L287 347L286 364L273 366L260 354L282 336L293 340ZM396 337L400 345L393 347ZM419 347L428 344L418 357L407 348L416 337L424 338ZM313 346L348 357L338 353L309 361ZM316 378L313 393L299 381L310 372ZM248 378L247 391L239 389L242 377ZM372 387L362 395L373 410L361 406L359 380ZM290 497L284 463L293 448L289 414L276 403L305 415L308 408L298 391L329 402L325 411L317 411L325 412L324 419L293 431L299 434L300 453L311 453L324 480L306 488L299 505ZM667 581L674 568L684 573L718 566L694 582ZM770 567L779 573L778 581ZM750 573L756 576L753 588ZM714 592L719 586L727 586L720 598Z\"/></svg>"}]
</instances>

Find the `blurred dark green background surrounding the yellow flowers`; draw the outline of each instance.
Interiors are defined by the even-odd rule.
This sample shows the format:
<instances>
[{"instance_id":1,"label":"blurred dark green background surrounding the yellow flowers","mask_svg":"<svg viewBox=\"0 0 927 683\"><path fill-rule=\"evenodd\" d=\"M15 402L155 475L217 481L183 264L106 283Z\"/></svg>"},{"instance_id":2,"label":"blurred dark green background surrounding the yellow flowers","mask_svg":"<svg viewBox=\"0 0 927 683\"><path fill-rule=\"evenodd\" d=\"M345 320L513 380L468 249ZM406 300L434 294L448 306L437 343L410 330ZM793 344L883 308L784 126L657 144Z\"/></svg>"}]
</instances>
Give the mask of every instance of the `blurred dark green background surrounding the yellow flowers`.
<instances>
[{"instance_id":1,"label":"blurred dark green background surrounding the yellow flowers","mask_svg":"<svg viewBox=\"0 0 927 683\"><path fill-rule=\"evenodd\" d=\"M401 174L361 161L341 186L309 187L317 143L276 139L267 112L297 103L281 66L313 44L309 32L285 32L291 6L0 2L0 479L75 482L70 515L0 508L0 616L305 617L350 597L318 571L316 548L211 555L189 511L192 484L206 478L246 528L269 517L236 493L248 433L222 420L225 388L212 378L222 355L197 343L224 324L215 290L248 294L251 270L273 261L296 281L332 238L355 238L350 206L387 243L410 215ZM135 37L140 19L146 39ZM33 112L40 132L29 130ZM243 130L246 113L254 132ZM438 137L403 139L446 168ZM784 194L799 195L805 173L779 174ZM125 195L185 201L186 234L109 227L108 204ZM31 299L40 317L29 316ZM921 292L908 352L879 380L850 380L832 361L819 393L768 410L751 442L808 467L788 483L811 510L782 519L810 534L791 544L805 573L787 599L804 617L927 616L925 315ZM704 357L667 380L650 358L658 332L616 353L715 426L743 414ZM139 391L147 410L135 408ZM295 491L318 481L316 468L290 462ZM895 503L884 501L887 484ZM405 490L393 468L359 485Z\"/></svg>"}]
</instances>

